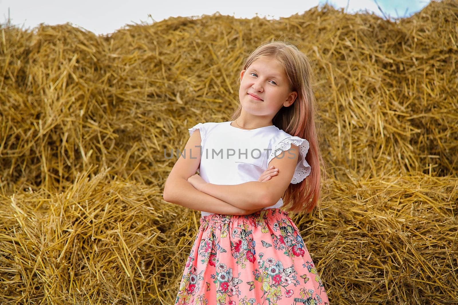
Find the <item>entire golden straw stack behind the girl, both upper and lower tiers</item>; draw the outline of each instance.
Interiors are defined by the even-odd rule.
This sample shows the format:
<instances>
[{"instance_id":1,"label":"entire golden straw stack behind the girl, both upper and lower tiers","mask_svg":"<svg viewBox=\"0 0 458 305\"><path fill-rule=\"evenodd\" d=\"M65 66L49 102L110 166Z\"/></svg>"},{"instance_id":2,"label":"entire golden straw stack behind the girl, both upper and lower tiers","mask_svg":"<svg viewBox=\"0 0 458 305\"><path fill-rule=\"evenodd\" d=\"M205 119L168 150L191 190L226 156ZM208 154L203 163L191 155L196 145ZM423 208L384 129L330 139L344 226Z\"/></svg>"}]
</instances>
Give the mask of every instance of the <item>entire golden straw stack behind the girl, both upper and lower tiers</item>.
<instances>
[{"instance_id":1,"label":"entire golden straw stack behind the girl, both upper and lower tiers","mask_svg":"<svg viewBox=\"0 0 458 305\"><path fill-rule=\"evenodd\" d=\"M0 28L0 303L173 304L200 212L163 201L187 128L289 38L316 68L322 203L293 215L332 304L458 300L458 3L397 21L324 6L96 36Z\"/></svg>"}]
</instances>

